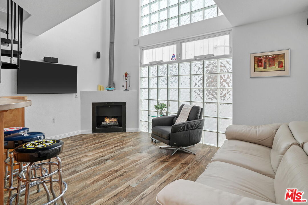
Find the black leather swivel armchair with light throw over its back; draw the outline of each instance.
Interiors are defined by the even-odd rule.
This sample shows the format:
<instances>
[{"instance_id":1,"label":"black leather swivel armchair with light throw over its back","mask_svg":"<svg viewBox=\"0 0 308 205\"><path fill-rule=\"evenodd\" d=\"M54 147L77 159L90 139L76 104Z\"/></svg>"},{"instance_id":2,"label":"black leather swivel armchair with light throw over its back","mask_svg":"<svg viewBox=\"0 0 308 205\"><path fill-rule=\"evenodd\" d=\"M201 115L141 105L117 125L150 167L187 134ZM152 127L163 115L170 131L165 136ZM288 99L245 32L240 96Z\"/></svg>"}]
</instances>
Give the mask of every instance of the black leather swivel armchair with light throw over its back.
<instances>
[{"instance_id":1,"label":"black leather swivel armchair with light throw over its back","mask_svg":"<svg viewBox=\"0 0 308 205\"><path fill-rule=\"evenodd\" d=\"M175 124L183 108L182 104L176 115L156 117L152 119L152 138L169 146L160 148L175 148L171 156L178 150L196 154L186 148L199 143L202 138L204 119L202 119L203 108L193 106L189 112L186 122Z\"/></svg>"}]
</instances>

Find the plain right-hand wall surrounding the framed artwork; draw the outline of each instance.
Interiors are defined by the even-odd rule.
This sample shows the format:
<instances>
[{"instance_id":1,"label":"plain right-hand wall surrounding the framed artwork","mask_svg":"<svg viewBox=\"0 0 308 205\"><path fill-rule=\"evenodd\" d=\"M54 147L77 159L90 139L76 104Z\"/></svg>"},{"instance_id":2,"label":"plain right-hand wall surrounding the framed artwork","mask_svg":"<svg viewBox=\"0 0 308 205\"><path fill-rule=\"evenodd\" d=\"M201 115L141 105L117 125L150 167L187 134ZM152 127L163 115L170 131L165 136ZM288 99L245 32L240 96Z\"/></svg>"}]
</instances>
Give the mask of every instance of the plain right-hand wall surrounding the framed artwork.
<instances>
[{"instance_id":1,"label":"plain right-hand wall surrounding the framed artwork","mask_svg":"<svg viewBox=\"0 0 308 205\"><path fill-rule=\"evenodd\" d=\"M233 28L233 124L308 121L307 12ZM249 78L249 53L291 49L290 77Z\"/></svg>"}]
</instances>

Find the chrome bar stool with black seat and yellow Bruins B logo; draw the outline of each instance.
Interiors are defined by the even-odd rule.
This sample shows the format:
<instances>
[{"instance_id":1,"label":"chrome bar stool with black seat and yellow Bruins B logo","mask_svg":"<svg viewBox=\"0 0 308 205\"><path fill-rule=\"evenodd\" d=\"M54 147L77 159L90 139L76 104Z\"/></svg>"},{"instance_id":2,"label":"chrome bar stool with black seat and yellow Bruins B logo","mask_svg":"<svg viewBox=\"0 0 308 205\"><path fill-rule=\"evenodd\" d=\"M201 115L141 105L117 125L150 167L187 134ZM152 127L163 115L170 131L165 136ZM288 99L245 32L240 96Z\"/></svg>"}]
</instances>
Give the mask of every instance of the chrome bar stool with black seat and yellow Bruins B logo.
<instances>
[{"instance_id":1,"label":"chrome bar stool with black seat and yellow Bruins B logo","mask_svg":"<svg viewBox=\"0 0 308 205\"><path fill-rule=\"evenodd\" d=\"M20 196L22 192L25 192L25 205L29 204L29 195L30 195L30 187L37 186L39 184L50 184L51 194L53 196L53 200L49 198L49 191L47 189L47 203L43 205L49 205L52 203L56 203L57 200L61 198L62 204L67 205L64 200L64 193L67 190L67 184L62 180L62 170L61 170L61 160L58 157L59 154L63 151L63 141L62 140L53 140L53 139L45 139L45 140L34 140L28 142L26 144L20 145L14 149L13 155L14 159L19 162L19 174L17 176L18 185L17 185L17 193L13 195L10 199L10 205L13 203L14 199L16 200L16 204L19 203ZM53 162L52 159L55 159L56 162ZM42 162L44 160L48 160L47 162ZM36 162L40 162L39 164L34 164ZM29 163L26 168L23 168L23 163ZM57 166L58 168L53 171L52 165ZM33 177L31 175L31 170L36 167L48 166L49 170L47 173L42 174L39 177ZM42 170L43 171L43 170ZM59 180L53 179L53 175L58 174ZM56 196L53 183L59 183L60 195ZM23 187L22 183L26 183L26 186Z\"/></svg>"}]
</instances>

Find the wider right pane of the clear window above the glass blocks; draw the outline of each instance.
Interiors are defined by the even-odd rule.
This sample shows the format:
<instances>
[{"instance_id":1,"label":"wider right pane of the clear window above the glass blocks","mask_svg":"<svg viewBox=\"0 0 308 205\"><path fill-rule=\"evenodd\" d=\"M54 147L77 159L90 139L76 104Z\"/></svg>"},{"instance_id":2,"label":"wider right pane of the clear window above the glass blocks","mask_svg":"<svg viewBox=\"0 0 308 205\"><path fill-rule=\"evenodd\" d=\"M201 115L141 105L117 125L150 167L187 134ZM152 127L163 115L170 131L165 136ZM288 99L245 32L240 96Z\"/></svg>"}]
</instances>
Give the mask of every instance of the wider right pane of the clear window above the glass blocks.
<instances>
[{"instance_id":1,"label":"wider right pane of the clear window above the glass blocks","mask_svg":"<svg viewBox=\"0 0 308 205\"><path fill-rule=\"evenodd\" d=\"M229 34L187 41L182 43L181 59L192 59L194 56L207 54L228 55L230 54L229 48Z\"/></svg>"}]
</instances>

